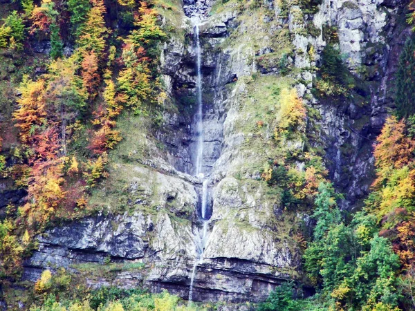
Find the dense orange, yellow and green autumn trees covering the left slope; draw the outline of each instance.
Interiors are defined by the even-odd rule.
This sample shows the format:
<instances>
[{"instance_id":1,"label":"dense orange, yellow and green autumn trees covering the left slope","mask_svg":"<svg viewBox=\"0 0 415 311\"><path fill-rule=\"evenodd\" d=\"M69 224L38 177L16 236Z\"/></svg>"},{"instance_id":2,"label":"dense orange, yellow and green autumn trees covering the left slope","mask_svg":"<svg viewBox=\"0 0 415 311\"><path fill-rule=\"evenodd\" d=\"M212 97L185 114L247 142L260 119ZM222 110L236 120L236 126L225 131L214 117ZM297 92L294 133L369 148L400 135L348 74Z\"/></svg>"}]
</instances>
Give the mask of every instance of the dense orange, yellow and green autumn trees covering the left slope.
<instances>
[{"instance_id":1,"label":"dense orange, yellow and green autumn trees covering the left slope","mask_svg":"<svg viewBox=\"0 0 415 311\"><path fill-rule=\"evenodd\" d=\"M10 205L0 223L0 282L19 276L35 234L53 221L90 212L91 188L107 177L107 151L122 140L120 113L147 113L164 98L155 42L165 33L151 3L42 0L8 6L0 26L1 62L20 57L23 67L38 67L13 75L18 96L10 118L18 140L7 127L11 122L1 124L8 153L1 155L0 173L26 189L27 197ZM110 16L127 12L131 23L111 28ZM24 53L45 40L49 57L39 61ZM1 109L8 111L7 104Z\"/></svg>"}]
</instances>

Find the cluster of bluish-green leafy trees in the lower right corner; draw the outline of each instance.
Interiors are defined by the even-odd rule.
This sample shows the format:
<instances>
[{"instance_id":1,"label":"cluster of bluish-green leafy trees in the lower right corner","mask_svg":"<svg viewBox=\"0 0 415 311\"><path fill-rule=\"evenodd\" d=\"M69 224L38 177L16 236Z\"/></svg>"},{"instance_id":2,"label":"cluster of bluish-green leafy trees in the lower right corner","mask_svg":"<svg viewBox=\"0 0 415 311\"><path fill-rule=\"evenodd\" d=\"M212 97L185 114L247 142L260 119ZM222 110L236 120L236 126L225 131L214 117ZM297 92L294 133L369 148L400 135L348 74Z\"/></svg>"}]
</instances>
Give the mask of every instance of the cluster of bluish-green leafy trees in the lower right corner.
<instances>
[{"instance_id":1,"label":"cluster of bluish-green leafy trees in the lower right corner","mask_svg":"<svg viewBox=\"0 0 415 311\"><path fill-rule=\"evenodd\" d=\"M322 183L319 191L313 242L304 253L308 277L321 287L326 301L333 299L333 307L374 310L380 305L393 310L400 297L400 263L391 243L378 236L376 216L361 211L346 225L333 187Z\"/></svg>"}]
</instances>

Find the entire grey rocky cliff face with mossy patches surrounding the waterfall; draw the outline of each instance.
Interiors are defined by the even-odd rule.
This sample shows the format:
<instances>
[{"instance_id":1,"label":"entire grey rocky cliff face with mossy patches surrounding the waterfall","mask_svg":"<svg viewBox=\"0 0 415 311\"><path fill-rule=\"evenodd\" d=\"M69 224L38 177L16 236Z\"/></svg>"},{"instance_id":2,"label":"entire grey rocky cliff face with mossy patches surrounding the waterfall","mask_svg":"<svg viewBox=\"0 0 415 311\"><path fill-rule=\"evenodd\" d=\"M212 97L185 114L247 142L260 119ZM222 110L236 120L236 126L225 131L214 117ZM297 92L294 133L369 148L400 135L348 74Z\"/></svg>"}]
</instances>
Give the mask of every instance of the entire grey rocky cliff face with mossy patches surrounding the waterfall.
<instances>
[{"instance_id":1,"label":"entire grey rocky cliff face with mossy patches surrounding the waterfall","mask_svg":"<svg viewBox=\"0 0 415 311\"><path fill-rule=\"evenodd\" d=\"M305 13L296 3L254 1L241 9L239 2L186 0L160 8L164 25L174 28L160 56L169 95L163 124L155 128L134 117L120 122L124 140L111 156L110 178L90 202L98 214L39 236L39 249L25 263L26 279L35 281L46 268L80 271L80 265L109 258L142 265L111 276L87 276L92 286L145 285L187 298L201 229L201 180L192 176L194 15L202 17L203 163L210 172L211 216L194 300L261 301L275 285L300 277L293 228L308 216L283 211L280 195L261 180L264 163L279 151L268 147L271 126L252 130L257 120L273 117L274 88L296 86L306 104L320 112L313 144L325 149L331 177L347 194L345 206L356 205L367 193L371 140L391 105L394 57L405 39L396 23L403 3L324 0L316 12ZM351 97L333 103L312 93L313 67L326 45L327 27L337 29L347 66L367 85L364 105L356 106ZM311 34L311 28L317 31ZM289 75L281 74L282 59ZM292 151L304 147L300 141L287 144Z\"/></svg>"}]
</instances>

